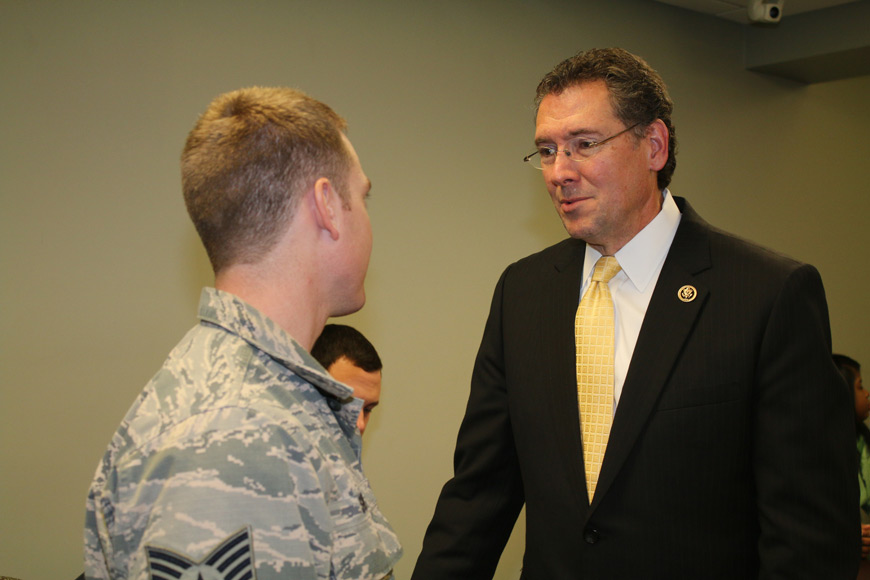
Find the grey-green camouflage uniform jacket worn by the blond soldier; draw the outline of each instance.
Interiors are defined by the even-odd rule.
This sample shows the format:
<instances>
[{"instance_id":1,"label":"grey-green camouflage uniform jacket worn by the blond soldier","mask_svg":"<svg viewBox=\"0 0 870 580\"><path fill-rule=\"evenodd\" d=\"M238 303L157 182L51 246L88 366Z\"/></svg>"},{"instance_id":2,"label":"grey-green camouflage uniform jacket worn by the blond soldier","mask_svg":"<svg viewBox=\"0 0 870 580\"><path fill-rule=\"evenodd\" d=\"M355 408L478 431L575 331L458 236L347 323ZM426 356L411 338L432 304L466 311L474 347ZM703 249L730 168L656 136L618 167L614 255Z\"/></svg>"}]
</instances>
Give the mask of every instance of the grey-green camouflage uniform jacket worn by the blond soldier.
<instances>
[{"instance_id":1,"label":"grey-green camouflage uniform jacket worn by the blond soldier","mask_svg":"<svg viewBox=\"0 0 870 580\"><path fill-rule=\"evenodd\" d=\"M115 433L87 500L88 578L392 578L398 539L360 464L361 402L231 294Z\"/></svg>"}]
</instances>

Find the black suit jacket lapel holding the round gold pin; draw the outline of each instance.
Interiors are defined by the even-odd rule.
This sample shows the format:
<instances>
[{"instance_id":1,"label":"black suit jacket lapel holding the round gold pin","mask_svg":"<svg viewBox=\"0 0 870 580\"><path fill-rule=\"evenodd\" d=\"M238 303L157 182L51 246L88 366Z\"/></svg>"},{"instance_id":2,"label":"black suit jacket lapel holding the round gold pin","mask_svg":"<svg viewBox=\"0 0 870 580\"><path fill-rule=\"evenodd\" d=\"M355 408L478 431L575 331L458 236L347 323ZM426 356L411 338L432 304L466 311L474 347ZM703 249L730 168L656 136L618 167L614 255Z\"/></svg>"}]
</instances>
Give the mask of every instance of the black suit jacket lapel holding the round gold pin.
<instances>
[{"instance_id":1,"label":"black suit jacket lapel holding the round gold pin","mask_svg":"<svg viewBox=\"0 0 870 580\"><path fill-rule=\"evenodd\" d=\"M707 226L685 200L675 199L683 216L641 325L591 510L625 463L709 294L696 279L710 267ZM684 286L696 291L691 301L678 295Z\"/></svg>"}]
</instances>

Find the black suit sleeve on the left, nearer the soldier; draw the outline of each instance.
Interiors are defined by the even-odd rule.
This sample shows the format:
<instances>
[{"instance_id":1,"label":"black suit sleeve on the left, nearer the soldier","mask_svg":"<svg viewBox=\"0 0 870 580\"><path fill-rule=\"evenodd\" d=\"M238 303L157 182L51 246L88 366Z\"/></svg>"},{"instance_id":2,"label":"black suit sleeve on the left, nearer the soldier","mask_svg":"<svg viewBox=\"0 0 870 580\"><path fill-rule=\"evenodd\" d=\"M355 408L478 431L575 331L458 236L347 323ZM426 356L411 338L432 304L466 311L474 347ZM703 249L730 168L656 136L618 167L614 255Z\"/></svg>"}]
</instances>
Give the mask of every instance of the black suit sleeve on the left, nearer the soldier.
<instances>
[{"instance_id":1,"label":"black suit sleeve on the left, nearer the soldier","mask_svg":"<svg viewBox=\"0 0 870 580\"><path fill-rule=\"evenodd\" d=\"M502 298L509 272L496 286L475 361L454 477L441 491L413 580L492 578L523 505L502 340Z\"/></svg>"}]
</instances>

